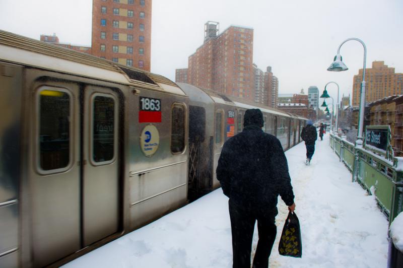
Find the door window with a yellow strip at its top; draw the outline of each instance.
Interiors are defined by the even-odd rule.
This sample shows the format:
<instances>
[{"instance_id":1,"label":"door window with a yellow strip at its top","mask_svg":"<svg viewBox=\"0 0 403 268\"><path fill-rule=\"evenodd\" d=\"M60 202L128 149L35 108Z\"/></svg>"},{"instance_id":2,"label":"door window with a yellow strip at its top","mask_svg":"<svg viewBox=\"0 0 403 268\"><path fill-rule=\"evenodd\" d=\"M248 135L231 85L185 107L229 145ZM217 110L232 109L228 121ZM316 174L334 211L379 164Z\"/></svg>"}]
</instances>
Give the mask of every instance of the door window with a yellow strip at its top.
<instances>
[{"instance_id":1,"label":"door window with a yellow strip at its top","mask_svg":"<svg viewBox=\"0 0 403 268\"><path fill-rule=\"evenodd\" d=\"M72 97L62 89L42 88L38 95L39 168L61 172L71 162Z\"/></svg>"}]
</instances>

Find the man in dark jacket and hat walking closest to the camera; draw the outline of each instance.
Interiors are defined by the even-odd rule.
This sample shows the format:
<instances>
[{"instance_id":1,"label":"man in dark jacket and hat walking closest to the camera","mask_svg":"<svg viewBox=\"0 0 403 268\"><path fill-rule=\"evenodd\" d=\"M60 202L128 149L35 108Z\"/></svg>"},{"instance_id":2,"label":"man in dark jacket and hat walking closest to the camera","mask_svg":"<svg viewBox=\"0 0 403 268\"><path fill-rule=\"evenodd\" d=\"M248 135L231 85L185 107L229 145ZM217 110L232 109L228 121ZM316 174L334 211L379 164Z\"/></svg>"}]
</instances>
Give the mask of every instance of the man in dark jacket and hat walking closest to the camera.
<instances>
[{"instance_id":1,"label":"man in dark jacket and hat walking closest to the camera","mask_svg":"<svg viewBox=\"0 0 403 268\"><path fill-rule=\"evenodd\" d=\"M230 198L233 268L250 268L256 220L259 241L253 267L267 268L277 233L277 197L294 211L294 193L280 141L261 129L261 111L247 110L243 125L243 131L224 144L217 179Z\"/></svg>"}]
</instances>

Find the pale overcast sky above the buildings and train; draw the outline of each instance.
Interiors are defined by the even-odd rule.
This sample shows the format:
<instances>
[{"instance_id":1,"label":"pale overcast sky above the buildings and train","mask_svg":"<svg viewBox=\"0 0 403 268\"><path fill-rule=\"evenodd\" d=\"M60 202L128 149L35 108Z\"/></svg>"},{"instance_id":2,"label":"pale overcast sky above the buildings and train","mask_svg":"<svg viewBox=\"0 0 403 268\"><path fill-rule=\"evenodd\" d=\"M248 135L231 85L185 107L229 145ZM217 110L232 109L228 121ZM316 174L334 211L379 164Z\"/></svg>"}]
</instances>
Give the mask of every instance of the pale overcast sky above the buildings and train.
<instances>
[{"instance_id":1,"label":"pale overcast sky above the buildings and train","mask_svg":"<svg viewBox=\"0 0 403 268\"><path fill-rule=\"evenodd\" d=\"M90 46L91 12L91 0L0 0L0 29L35 39L56 33L60 42ZM261 70L272 66L280 94L302 88L307 94L313 85L321 92L334 81L340 96L348 95L363 48L347 42L341 54L350 70L327 72L338 46L360 38L367 68L383 60L403 73L402 14L401 0L153 0L151 72L174 81L175 69L187 68L188 56L203 44L204 24L216 21L220 32L230 25L254 29L253 62ZM336 88L327 87L334 98Z\"/></svg>"}]
</instances>

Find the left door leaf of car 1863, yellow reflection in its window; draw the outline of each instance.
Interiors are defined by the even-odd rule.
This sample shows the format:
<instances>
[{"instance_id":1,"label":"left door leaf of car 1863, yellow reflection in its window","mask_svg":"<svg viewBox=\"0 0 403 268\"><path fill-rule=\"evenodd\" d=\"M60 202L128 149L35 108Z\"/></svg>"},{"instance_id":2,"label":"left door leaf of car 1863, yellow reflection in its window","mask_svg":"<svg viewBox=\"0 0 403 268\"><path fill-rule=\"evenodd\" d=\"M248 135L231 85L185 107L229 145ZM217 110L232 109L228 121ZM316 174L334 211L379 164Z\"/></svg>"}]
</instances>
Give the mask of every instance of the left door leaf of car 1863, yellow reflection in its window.
<instances>
[{"instance_id":1,"label":"left door leaf of car 1863, yellow reflection in its window","mask_svg":"<svg viewBox=\"0 0 403 268\"><path fill-rule=\"evenodd\" d=\"M34 91L30 120L33 266L81 248L80 90L52 83Z\"/></svg>"}]
</instances>

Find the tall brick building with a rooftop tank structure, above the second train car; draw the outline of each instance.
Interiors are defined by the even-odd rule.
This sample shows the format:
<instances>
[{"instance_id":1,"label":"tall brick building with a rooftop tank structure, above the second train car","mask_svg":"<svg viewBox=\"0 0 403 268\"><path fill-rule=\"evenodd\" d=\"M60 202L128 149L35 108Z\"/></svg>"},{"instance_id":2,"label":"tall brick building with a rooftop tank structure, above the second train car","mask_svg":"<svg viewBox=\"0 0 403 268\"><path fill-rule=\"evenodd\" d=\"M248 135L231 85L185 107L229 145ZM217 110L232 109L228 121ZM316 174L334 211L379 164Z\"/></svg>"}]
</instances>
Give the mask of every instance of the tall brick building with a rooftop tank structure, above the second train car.
<instances>
[{"instance_id":1,"label":"tall brick building with a rooftop tank structure, above the second train car","mask_svg":"<svg viewBox=\"0 0 403 268\"><path fill-rule=\"evenodd\" d=\"M205 42L188 59L188 83L254 101L253 29L205 24Z\"/></svg>"}]
</instances>

